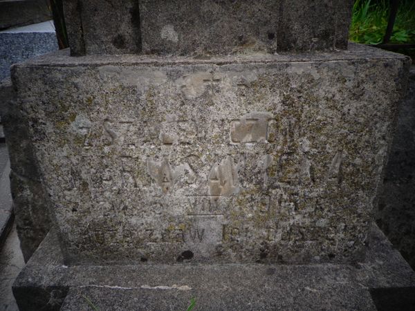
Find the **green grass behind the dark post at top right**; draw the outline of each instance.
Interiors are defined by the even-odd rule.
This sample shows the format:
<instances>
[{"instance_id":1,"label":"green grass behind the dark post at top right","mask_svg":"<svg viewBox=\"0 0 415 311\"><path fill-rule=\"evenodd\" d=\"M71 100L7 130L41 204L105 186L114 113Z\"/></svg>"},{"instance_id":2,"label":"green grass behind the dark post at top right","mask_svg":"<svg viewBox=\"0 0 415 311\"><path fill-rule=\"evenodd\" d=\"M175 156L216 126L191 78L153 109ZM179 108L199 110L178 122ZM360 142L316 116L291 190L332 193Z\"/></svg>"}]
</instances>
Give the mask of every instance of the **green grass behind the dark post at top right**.
<instances>
[{"instance_id":1,"label":"green grass behind the dark post at top right","mask_svg":"<svg viewBox=\"0 0 415 311\"><path fill-rule=\"evenodd\" d=\"M356 0L349 39L362 44L380 44L389 19L389 1ZM415 43L415 1L400 0L390 43Z\"/></svg>"}]
</instances>

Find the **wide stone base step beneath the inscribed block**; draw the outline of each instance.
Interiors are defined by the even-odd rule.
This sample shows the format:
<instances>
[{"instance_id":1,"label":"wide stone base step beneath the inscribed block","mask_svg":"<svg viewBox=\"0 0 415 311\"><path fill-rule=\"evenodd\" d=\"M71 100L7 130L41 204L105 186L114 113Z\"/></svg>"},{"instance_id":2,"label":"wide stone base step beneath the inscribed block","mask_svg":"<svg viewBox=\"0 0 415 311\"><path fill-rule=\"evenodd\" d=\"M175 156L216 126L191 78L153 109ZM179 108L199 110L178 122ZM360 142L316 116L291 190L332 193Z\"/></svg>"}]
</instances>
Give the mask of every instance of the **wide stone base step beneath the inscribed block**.
<instances>
[{"instance_id":1,"label":"wide stone base step beneath the inscribed block","mask_svg":"<svg viewBox=\"0 0 415 311\"><path fill-rule=\"evenodd\" d=\"M415 273L375 225L366 254L356 265L68 267L50 233L13 293L21 311L185 310L192 297L197 310L409 310ZM385 296L389 305L382 302Z\"/></svg>"}]
</instances>

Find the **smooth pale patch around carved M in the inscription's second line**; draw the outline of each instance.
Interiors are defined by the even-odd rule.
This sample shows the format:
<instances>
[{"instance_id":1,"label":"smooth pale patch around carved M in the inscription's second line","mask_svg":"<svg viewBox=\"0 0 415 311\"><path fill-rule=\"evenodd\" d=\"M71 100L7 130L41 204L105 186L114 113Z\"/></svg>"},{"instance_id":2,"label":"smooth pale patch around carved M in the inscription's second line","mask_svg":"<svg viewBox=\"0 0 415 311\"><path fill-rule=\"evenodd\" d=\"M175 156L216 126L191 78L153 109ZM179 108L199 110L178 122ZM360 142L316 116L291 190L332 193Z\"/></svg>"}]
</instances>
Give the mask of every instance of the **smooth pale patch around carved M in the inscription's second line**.
<instances>
[{"instance_id":1,"label":"smooth pale patch around carved M in the inscription's second line","mask_svg":"<svg viewBox=\"0 0 415 311\"><path fill-rule=\"evenodd\" d=\"M237 169L230 156L214 164L209 173L209 194L229 196L237 190Z\"/></svg>"}]
</instances>

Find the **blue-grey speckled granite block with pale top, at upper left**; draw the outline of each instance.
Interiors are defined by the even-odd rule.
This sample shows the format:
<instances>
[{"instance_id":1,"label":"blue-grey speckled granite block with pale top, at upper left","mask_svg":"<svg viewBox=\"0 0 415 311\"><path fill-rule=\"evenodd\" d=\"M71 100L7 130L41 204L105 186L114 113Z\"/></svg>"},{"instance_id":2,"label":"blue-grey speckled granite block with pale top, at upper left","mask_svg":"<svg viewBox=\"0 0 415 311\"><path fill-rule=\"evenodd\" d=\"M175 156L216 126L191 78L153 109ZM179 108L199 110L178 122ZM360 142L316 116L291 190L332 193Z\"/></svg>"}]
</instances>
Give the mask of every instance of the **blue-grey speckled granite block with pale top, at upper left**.
<instances>
[{"instance_id":1,"label":"blue-grey speckled granite block with pale top, at upper left","mask_svg":"<svg viewBox=\"0 0 415 311\"><path fill-rule=\"evenodd\" d=\"M10 77L12 64L57 50L52 21L49 27L48 23L40 26L35 24L0 32L0 80Z\"/></svg>"}]
</instances>

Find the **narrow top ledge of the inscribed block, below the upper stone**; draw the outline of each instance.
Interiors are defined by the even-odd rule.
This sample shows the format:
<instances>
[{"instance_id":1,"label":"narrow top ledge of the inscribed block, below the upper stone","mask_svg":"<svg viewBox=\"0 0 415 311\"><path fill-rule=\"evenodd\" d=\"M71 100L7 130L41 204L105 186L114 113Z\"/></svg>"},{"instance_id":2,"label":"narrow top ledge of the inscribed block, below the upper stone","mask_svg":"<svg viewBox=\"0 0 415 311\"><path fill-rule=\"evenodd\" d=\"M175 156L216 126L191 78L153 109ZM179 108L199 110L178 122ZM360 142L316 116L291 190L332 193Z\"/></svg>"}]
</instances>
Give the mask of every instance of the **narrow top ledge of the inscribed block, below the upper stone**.
<instances>
[{"instance_id":1,"label":"narrow top ledge of the inscribed block, below the upper stone","mask_svg":"<svg viewBox=\"0 0 415 311\"><path fill-rule=\"evenodd\" d=\"M336 62L336 61L356 61L367 62L369 60L379 61L394 59L401 62L410 63L410 58L392 53L380 48L371 48L363 44L349 44L348 50L338 50L329 53L250 53L241 55L206 56L206 57L183 57L183 56L157 56L157 55L91 55L81 57L71 57L69 49L59 50L48 55L35 57L26 62L15 64L12 70L21 67L75 67L111 65L153 65L165 66L169 64L250 64L250 63L284 63L284 62Z\"/></svg>"}]
</instances>

